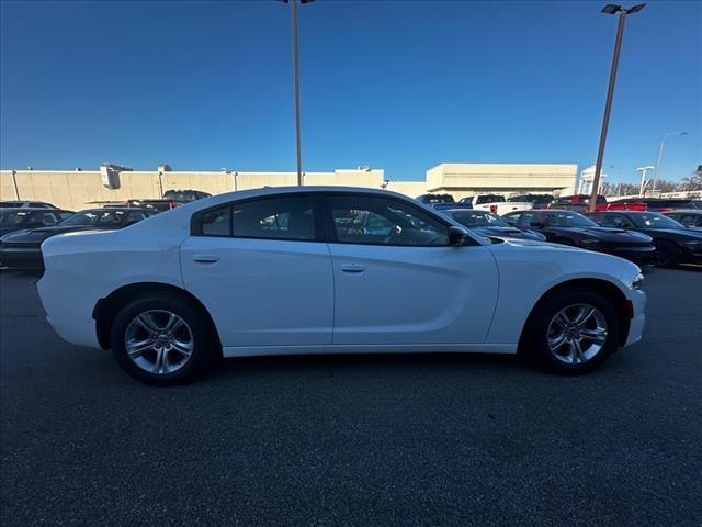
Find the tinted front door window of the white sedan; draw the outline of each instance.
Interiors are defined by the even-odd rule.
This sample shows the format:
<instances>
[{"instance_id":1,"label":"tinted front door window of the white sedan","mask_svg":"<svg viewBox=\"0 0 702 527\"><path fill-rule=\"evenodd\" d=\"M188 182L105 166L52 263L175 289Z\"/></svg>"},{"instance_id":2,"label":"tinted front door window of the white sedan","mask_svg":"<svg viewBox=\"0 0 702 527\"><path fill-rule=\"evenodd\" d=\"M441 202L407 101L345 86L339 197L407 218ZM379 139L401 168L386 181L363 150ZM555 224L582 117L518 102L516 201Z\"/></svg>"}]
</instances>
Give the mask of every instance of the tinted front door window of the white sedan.
<instances>
[{"instance_id":1,"label":"tinted front door window of the white sedan","mask_svg":"<svg viewBox=\"0 0 702 527\"><path fill-rule=\"evenodd\" d=\"M342 243L449 245L448 228L439 220L399 200L332 195L329 206L337 239Z\"/></svg>"}]
</instances>

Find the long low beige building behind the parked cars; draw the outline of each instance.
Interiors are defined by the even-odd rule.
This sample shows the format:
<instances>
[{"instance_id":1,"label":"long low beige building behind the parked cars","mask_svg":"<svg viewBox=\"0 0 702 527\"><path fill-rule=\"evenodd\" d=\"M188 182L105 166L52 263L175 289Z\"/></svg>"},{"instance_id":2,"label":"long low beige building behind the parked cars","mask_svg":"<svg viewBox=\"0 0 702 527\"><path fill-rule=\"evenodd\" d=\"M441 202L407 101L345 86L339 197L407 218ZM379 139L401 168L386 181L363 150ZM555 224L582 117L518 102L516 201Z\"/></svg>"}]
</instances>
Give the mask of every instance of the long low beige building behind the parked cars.
<instances>
[{"instance_id":1,"label":"long low beige building behind the parked cars","mask_svg":"<svg viewBox=\"0 0 702 527\"><path fill-rule=\"evenodd\" d=\"M577 165L441 164L423 181L387 181L382 169L359 167L329 172L304 172L305 184L385 188L411 198L427 192L460 199L476 193L573 193ZM0 199L41 200L70 210L157 199L169 189L194 189L211 194L260 187L296 184L295 172L133 170L104 164L98 170L0 170Z\"/></svg>"}]
</instances>

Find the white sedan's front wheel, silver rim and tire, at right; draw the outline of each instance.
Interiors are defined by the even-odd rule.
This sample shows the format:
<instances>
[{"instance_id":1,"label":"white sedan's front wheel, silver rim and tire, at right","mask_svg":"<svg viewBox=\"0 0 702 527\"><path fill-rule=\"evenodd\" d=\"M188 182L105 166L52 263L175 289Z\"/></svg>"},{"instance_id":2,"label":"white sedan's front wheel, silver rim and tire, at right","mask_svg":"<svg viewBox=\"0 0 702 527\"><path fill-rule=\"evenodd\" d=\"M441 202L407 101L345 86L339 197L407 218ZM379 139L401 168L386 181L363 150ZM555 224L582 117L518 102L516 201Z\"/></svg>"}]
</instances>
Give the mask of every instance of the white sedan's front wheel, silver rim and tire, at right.
<instances>
[{"instance_id":1,"label":"white sedan's front wheel, silver rim and tire, at right","mask_svg":"<svg viewBox=\"0 0 702 527\"><path fill-rule=\"evenodd\" d=\"M618 346L620 322L598 291L559 291L540 303L529 327L529 355L541 367L578 374L600 365Z\"/></svg>"}]
</instances>

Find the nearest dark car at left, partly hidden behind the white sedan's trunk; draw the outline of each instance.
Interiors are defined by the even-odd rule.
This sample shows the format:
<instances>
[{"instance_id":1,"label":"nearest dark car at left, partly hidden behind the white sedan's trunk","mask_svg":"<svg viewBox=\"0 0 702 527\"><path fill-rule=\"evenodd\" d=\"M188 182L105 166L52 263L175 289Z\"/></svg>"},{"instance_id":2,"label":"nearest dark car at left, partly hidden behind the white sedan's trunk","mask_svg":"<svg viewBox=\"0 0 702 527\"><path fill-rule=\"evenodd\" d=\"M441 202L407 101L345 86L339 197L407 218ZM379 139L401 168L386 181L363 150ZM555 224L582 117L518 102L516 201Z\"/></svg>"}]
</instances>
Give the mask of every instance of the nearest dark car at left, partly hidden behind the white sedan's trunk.
<instances>
[{"instance_id":1,"label":"nearest dark car at left, partly hidden behind the white sedan's trunk","mask_svg":"<svg viewBox=\"0 0 702 527\"><path fill-rule=\"evenodd\" d=\"M89 209L58 225L15 231L0 237L0 268L43 269L41 245L57 234L77 231L113 231L157 214L149 209Z\"/></svg>"}]
</instances>

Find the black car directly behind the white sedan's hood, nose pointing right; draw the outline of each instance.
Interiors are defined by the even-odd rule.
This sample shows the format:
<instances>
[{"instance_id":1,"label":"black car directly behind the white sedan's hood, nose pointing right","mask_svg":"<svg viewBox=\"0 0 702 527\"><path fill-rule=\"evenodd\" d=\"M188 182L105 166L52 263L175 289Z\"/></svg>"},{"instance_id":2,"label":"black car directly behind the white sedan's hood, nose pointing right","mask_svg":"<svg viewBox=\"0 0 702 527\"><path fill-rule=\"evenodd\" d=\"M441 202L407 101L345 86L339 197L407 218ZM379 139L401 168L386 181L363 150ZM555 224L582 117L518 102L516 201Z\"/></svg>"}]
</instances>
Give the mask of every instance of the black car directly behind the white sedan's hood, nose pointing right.
<instances>
[{"instance_id":1,"label":"black car directly behind the white sedan's hood, nose pointing right","mask_svg":"<svg viewBox=\"0 0 702 527\"><path fill-rule=\"evenodd\" d=\"M656 250L650 236L624 228L601 227L575 211L516 211L502 217L517 228L539 231L548 242L608 253L636 264L650 262Z\"/></svg>"}]
</instances>

